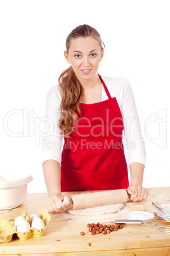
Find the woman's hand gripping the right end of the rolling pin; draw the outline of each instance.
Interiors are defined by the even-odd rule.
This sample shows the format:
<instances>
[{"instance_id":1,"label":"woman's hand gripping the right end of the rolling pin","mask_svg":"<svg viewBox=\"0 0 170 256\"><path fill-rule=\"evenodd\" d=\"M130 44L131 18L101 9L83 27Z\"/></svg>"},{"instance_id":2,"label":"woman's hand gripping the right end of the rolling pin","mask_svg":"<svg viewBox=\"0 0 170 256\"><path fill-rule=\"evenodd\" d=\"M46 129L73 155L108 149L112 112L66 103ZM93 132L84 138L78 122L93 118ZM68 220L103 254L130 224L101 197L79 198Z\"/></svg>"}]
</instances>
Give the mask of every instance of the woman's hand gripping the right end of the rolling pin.
<instances>
[{"instance_id":1,"label":"woman's hand gripping the right end of the rolling pin","mask_svg":"<svg viewBox=\"0 0 170 256\"><path fill-rule=\"evenodd\" d=\"M130 201L138 202L147 199L148 188L144 188L140 185L131 185L127 188L128 194L131 195Z\"/></svg>"}]
</instances>

